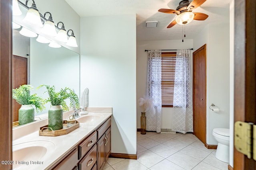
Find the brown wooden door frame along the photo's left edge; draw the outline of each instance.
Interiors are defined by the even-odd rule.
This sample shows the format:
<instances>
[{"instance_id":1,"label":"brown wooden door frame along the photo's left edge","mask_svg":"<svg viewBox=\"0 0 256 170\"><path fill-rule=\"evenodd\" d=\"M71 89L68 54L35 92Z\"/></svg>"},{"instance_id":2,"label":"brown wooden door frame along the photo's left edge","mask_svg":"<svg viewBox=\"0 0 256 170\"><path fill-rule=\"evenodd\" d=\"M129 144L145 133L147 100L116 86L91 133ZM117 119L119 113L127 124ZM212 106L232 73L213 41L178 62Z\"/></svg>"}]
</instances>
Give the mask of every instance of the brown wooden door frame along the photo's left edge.
<instances>
[{"instance_id":1,"label":"brown wooden door frame along the photo's left edge","mask_svg":"<svg viewBox=\"0 0 256 170\"><path fill-rule=\"evenodd\" d=\"M12 1L0 0L0 160L12 160ZM0 170L12 169L0 164Z\"/></svg>"}]
</instances>

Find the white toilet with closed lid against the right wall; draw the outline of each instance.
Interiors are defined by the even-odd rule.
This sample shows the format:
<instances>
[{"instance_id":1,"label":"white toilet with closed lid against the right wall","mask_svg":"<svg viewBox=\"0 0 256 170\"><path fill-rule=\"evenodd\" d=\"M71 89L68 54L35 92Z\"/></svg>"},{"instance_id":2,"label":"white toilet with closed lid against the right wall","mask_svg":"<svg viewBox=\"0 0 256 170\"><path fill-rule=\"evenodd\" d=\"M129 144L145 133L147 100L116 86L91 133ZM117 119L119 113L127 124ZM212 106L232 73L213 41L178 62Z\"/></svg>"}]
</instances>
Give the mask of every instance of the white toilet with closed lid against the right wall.
<instances>
[{"instance_id":1,"label":"white toilet with closed lid against the right wall","mask_svg":"<svg viewBox=\"0 0 256 170\"><path fill-rule=\"evenodd\" d=\"M215 128L212 131L212 135L218 141L216 158L229 163L229 129Z\"/></svg>"}]
</instances>

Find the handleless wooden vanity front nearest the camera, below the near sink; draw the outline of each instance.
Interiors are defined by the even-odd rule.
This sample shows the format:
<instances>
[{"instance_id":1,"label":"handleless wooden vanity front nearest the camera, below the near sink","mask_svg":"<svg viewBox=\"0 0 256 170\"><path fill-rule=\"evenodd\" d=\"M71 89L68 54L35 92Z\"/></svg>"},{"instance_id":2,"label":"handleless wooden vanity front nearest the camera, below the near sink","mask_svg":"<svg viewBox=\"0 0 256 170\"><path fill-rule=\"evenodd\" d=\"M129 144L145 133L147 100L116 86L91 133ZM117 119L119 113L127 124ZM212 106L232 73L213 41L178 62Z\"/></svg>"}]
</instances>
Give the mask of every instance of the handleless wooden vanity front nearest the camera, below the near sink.
<instances>
[{"instance_id":1,"label":"handleless wooden vanity front nearest the camera, below the near sink","mask_svg":"<svg viewBox=\"0 0 256 170\"><path fill-rule=\"evenodd\" d=\"M64 158L60 164L58 164L56 167L54 167L54 170L72 170L77 162L77 154L78 150L74 149L66 158Z\"/></svg>"}]
</instances>

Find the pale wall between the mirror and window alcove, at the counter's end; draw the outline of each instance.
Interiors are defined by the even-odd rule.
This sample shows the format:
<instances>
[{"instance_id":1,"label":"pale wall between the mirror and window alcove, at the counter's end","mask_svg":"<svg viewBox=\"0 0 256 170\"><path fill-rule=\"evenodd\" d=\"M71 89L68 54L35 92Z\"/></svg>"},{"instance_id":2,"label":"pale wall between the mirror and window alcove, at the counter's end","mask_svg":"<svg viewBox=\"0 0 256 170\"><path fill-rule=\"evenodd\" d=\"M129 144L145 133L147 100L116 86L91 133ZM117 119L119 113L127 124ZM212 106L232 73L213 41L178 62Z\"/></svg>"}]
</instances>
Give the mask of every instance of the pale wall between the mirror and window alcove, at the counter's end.
<instances>
[{"instance_id":1,"label":"pale wall between the mirror and window alcove, at the counter's end","mask_svg":"<svg viewBox=\"0 0 256 170\"><path fill-rule=\"evenodd\" d=\"M136 154L136 15L81 18L80 87L113 107L112 153Z\"/></svg>"}]
</instances>

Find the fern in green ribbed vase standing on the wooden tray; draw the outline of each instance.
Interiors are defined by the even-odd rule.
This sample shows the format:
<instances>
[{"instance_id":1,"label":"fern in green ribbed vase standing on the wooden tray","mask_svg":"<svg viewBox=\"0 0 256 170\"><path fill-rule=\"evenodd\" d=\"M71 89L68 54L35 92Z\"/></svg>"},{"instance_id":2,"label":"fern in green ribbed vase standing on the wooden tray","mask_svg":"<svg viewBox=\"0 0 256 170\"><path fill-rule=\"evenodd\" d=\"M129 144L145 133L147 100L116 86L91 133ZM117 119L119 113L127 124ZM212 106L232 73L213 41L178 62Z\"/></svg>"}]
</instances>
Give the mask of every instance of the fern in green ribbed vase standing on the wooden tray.
<instances>
[{"instance_id":1,"label":"fern in green ribbed vase standing on the wooden tray","mask_svg":"<svg viewBox=\"0 0 256 170\"><path fill-rule=\"evenodd\" d=\"M46 99L46 103L50 102L51 106L48 110L48 127L53 131L63 128L63 111L68 111L69 107L66 103L66 99L70 100L70 107L73 107L73 101L76 104L76 108L79 108L78 96L70 88L60 89L59 92L55 91L55 86L40 85L38 88L46 87L46 92L49 98ZM45 93L46 93L45 92Z\"/></svg>"}]
</instances>

